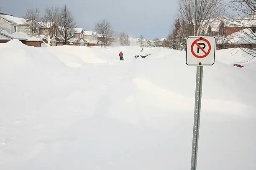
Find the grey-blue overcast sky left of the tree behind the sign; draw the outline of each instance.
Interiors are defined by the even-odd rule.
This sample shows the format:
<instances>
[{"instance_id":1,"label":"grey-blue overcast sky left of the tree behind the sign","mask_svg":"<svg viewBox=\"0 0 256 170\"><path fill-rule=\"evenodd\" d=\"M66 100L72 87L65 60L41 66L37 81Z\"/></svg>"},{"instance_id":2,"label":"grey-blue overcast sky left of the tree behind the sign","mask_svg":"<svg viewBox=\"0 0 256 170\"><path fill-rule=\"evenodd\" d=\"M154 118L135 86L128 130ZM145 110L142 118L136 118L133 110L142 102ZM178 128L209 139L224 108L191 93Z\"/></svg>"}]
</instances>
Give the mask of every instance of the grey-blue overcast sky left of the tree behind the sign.
<instances>
[{"instance_id":1,"label":"grey-blue overcast sky left of the tree behind the sign","mask_svg":"<svg viewBox=\"0 0 256 170\"><path fill-rule=\"evenodd\" d=\"M95 23L108 19L116 32L131 37L166 37L173 25L177 0L1 0L2 12L22 17L28 8L67 4L77 28L94 30Z\"/></svg>"}]
</instances>

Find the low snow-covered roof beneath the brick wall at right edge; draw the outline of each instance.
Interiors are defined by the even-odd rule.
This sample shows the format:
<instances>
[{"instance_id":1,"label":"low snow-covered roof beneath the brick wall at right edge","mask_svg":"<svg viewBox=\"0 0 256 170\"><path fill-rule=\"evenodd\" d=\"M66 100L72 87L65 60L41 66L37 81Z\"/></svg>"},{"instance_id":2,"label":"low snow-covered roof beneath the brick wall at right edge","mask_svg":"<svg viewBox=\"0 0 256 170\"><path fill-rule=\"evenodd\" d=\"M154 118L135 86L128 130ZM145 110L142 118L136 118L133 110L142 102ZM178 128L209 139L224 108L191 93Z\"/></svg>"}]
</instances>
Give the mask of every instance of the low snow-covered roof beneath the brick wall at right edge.
<instances>
[{"instance_id":1,"label":"low snow-covered roof beneath the brick wall at right edge","mask_svg":"<svg viewBox=\"0 0 256 170\"><path fill-rule=\"evenodd\" d=\"M256 33L250 28L245 28L226 37L230 44L256 44Z\"/></svg>"}]
</instances>

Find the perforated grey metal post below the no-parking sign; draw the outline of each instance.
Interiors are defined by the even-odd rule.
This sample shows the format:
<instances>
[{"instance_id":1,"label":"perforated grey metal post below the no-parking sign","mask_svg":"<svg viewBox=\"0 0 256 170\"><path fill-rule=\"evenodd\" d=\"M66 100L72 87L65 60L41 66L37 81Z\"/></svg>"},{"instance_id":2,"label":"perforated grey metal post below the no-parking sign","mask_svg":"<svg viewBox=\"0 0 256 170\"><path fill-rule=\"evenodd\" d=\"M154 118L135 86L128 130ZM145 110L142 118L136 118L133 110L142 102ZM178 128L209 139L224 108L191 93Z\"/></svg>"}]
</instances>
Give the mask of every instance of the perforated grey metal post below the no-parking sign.
<instances>
[{"instance_id":1,"label":"perforated grey metal post below the no-parking sign","mask_svg":"<svg viewBox=\"0 0 256 170\"><path fill-rule=\"evenodd\" d=\"M202 75L203 75L203 66L197 66L191 170L197 169L197 149L198 149L200 110L201 110L201 97L202 97Z\"/></svg>"}]
</instances>

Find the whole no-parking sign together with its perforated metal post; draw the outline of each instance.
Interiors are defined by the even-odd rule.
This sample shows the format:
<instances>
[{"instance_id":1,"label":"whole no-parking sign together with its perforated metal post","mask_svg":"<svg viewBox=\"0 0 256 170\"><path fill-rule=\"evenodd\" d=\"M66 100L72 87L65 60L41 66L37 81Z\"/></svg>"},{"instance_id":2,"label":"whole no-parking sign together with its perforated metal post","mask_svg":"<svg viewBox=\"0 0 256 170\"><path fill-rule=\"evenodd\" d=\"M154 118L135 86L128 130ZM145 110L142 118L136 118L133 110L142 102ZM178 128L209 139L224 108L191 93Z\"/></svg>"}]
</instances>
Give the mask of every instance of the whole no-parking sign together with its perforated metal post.
<instances>
[{"instance_id":1,"label":"whole no-parking sign together with its perforated metal post","mask_svg":"<svg viewBox=\"0 0 256 170\"><path fill-rule=\"evenodd\" d=\"M195 112L192 140L191 170L197 169L197 150L200 125L200 110L202 98L203 65L213 65L215 62L216 39L213 36L187 37L186 64L197 66Z\"/></svg>"}]
</instances>

